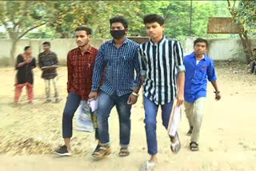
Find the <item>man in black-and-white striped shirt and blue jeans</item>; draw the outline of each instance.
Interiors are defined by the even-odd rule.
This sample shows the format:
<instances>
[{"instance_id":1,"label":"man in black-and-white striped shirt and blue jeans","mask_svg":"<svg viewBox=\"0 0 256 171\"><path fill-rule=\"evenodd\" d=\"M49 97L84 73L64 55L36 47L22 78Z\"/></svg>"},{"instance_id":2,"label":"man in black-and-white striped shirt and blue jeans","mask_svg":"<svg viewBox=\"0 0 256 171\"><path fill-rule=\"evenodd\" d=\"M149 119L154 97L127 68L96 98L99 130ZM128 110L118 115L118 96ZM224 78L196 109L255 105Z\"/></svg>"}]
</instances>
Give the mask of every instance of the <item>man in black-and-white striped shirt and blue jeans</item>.
<instances>
[{"instance_id":1,"label":"man in black-and-white striped shirt and blue jeans","mask_svg":"<svg viewBox=\"0 0 256 171\"><path fill-rule=\"evenodd\" d=\"M158 107L162 108L162 125L168 128L174 98L177 105L184 101L185 67L183 66L182 46L178 41L164 36L164 19L158 14L149 14L144 18L146 31L150 41L142 43L139 49L142 82L144 85L144 109L146 141L150 160L142 166L142 170L154 168L157 162L158 143L156 136L156 117ZM178 87L175 73L178 72ZM178 92L177 92L178 91ZM170 137L171 150L178 153L181 145L176 137Z\"/></svg>"}]
</instances>

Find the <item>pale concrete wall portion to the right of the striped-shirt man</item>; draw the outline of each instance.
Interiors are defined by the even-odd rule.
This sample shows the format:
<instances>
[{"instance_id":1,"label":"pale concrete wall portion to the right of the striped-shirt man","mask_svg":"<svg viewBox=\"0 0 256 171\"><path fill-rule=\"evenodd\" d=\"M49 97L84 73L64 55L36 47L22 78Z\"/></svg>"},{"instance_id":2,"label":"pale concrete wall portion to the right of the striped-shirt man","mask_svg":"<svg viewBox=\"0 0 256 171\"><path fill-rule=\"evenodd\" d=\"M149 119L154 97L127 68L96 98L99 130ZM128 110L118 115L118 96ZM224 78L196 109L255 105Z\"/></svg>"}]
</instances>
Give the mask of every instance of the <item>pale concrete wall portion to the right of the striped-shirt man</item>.
<instances>
[{"instance_id":1,"label":"pale concrete wall portion to the right of the striped-shirt man","mask_svg":"<svg viewBox=\"0 0 256 171\"><path fill-rule=\"evenodd\" d=\"M186 38L184 54L191 54L194 51L194 40L196 38ZM214 60L235 59L245 62L242 42L240 38L210 38L208 55ZM256 47L256 39L251 39L252 48Z\"/></svg>"}]
</instances>

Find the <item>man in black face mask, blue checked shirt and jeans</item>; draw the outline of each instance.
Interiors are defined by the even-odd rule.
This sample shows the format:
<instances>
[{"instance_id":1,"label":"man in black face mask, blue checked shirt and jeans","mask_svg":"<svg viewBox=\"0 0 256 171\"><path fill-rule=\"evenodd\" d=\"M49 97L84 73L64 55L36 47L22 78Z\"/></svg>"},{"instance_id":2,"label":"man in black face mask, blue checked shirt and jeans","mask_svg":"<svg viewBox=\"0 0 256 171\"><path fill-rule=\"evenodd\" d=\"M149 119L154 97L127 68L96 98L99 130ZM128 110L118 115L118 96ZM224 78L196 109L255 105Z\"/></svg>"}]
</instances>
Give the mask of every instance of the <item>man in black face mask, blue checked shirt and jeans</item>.
<instances>
[{"instance_id":1,"label":"man in black face mask, blue checked shirt and jeans","mask_svg":"<svg viewBox=\"0 0 256 171\"><path fill-rule=\"evenodd\" d=\"M101 78L106 68L102 90L99 94L98 131L101 144L93 157L101 159L109 155L110 135L108 117L116 106L120 124L120 157L130 154L130 109L138 99L141 74L138 61L138 44L126 38L128 23L122 16L110 19L110 34L114 38L105 42L99 49L94 66L93 85L89 98L98 97ZM134 70L136 78L134 79Z\"/></svg>"}]
</instances>

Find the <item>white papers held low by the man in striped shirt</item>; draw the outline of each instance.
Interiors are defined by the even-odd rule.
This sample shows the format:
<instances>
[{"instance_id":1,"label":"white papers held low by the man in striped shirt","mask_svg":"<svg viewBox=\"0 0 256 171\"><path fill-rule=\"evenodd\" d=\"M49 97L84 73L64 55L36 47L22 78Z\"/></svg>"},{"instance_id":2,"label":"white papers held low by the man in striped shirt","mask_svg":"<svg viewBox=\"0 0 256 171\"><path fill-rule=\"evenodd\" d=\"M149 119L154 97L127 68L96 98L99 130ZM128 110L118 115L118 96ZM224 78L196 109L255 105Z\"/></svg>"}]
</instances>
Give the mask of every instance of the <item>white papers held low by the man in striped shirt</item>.
<instances>
[{"instance_id":1,"label":"white papers held low by the man in striped shirt","mask_svg":"<svg viewBox=\"0 0 256 171\"><path fill-rule=\"evenodd\" d=\"M170 121L168 125L168 134L170 137L175 137L176 132L178 131L178 123L182 117L182 109L180 106L174 105L172 113L170 115Z\"/></svg>"}]
</instances>

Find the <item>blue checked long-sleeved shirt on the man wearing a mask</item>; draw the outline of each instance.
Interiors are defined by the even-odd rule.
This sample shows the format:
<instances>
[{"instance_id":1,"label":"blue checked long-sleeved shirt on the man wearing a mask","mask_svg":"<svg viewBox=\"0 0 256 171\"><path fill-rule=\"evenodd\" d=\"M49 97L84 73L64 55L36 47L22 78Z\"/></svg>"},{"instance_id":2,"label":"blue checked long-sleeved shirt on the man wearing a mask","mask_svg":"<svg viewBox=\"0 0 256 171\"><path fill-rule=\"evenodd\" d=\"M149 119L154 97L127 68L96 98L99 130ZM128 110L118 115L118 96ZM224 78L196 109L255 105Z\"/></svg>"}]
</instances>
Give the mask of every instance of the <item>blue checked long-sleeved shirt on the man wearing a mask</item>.
<instances>
[{"instance_id":1,"label":"blue checked long-sleeved shirt on the man wearing a mask","mask_svg":"<svg viewBox=\"0 0 256 171\"><path fill-rule=\"evenodd\" d=\"M131 93L135 87L140 87L142 84L138 44L128 38L119 48L114 45L114 40L105 42L100 47L94 66L91 91L98 90L105 67L106 75L101 89L108 95L116 93L118 96L122 96Z\"/></svg>"}]
</instances>

